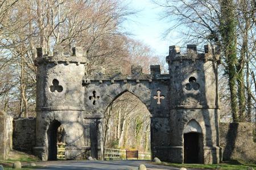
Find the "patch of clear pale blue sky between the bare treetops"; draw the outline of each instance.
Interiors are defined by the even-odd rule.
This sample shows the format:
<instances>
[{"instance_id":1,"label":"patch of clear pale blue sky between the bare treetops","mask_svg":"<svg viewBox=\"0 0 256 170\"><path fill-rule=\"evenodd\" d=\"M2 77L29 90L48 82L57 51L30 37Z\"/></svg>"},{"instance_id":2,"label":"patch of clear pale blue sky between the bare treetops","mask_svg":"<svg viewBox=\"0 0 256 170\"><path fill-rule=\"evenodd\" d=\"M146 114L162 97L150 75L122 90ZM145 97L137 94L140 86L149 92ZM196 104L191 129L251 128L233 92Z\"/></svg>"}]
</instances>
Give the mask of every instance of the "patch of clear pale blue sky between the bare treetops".
<instances>
[{"instance_id":1,"label":"patch of clear pale blue sky between the bare treetops","mask_svg":"<svg viewBox=\"0 0 256 170\"><path fill-rule=\"evenodd\" d=\"M170 45L176 45L171 37L164 37L164 32L170 27L170 23L160 19L163 8L158 7L151 0L130 0L129 8L139 11L130 16L123 23L125 30L132 34L136 40L150 45L158 56L167 56Z\"/></svg>"}]
</instances>

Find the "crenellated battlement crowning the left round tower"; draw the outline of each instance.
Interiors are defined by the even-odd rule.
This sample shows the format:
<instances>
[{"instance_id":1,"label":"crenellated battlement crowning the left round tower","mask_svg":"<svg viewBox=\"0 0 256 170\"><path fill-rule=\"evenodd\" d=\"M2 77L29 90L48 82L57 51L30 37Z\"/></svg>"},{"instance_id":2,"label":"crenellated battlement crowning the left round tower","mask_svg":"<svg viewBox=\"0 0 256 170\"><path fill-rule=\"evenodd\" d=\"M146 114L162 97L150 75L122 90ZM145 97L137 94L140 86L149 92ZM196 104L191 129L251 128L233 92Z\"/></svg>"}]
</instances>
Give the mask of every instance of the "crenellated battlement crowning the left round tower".
<instances>
[{"instance_id":1,"label":"crenellated battlement crowning the left round tower","mask_svg":"<svg viewBox=\"0 0 256 170\"><path fill-rule=\"evenodd\" d=\"M40 63L76 63L77 65L87 62L84 56L84 50L80 46L75 46L72 49L65 49L64 46L55 46L53 52L47 51L46 48L36 49L37 58L35 59L35 65Z\"/></svg>"}]
</instances>

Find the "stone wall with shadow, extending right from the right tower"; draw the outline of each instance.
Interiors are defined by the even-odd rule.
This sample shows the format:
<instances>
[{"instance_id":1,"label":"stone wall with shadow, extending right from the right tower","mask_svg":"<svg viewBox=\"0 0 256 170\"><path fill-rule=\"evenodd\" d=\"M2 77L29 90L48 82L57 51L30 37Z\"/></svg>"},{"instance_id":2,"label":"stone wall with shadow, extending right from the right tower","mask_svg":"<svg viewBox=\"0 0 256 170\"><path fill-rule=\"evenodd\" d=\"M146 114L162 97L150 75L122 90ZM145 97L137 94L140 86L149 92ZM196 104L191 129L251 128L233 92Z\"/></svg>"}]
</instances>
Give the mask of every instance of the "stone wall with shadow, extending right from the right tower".
<instances>
[{"instance_id":1,"label":"stone wall with shadow, extending right from the right tower","mask_svg":"<svg viewBox=\"0 0 256 170\"><path fill-rule=\"evenodd\" d=\"M220 123L222 159L242 159L256 162L256 143L253 141L253 123Z\"/></svg>"}]
</instances>

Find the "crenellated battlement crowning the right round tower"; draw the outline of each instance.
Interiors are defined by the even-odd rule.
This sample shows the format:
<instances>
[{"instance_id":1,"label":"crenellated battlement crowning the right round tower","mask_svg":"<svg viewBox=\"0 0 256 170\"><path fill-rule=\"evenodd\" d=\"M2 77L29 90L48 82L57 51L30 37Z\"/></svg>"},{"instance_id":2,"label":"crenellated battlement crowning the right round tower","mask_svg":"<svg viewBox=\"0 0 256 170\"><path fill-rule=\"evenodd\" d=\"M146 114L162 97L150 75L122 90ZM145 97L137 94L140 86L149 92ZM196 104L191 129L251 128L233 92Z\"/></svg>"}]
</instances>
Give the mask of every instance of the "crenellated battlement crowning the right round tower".
<instances>
[{"instance_id":1,"label":"crenellated battlement crowning the right round tower","mask_svg":"<svg viewBox=\"0 0 256 170\"><path fill-rule=\"evenodd\" d=\"M220 57L220 50L214 45L204 45L204 53L197 53L197 46L188 44L187 53L181 54L180 47L177 45L169 46L169 56L166 57L166 62L203 59L205 61L218 61Z\"/></svg>"}]
</instances>

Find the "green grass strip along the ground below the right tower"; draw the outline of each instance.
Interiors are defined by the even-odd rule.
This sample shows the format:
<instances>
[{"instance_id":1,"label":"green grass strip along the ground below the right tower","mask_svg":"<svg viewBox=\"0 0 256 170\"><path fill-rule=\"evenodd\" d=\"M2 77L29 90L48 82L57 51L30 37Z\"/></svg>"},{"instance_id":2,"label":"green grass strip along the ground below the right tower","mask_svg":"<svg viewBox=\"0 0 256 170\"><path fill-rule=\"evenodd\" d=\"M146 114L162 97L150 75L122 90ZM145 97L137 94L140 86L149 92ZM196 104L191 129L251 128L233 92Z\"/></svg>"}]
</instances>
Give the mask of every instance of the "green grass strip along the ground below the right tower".
<instances>
[{"instance_id":1,"label":"green grass strip along the ground below the right tower","mask_svg":"<svg viewBox=\"0 0 256 170\"><path fill-rule=\"evenodd\" d=\"M246 163L242 160L230 160L228 162L222 162L220 164L176 164L176 163L161 163L162 165L168 165L172 167L184 167L184 168L198 168L198 169L247 169L249 167L256 168L256 164Z\"/></svg>"}]
</instances>

